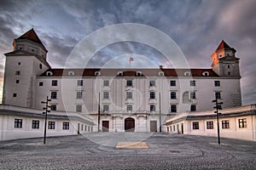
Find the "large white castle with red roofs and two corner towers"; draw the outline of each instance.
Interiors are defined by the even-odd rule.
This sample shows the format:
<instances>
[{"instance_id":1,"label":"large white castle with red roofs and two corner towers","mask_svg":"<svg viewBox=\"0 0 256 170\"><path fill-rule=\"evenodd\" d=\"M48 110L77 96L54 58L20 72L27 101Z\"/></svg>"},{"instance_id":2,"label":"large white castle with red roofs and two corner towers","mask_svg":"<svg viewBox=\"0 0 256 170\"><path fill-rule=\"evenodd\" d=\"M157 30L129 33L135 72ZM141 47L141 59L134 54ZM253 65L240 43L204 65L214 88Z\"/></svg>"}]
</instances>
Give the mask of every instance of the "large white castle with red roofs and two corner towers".
<instances>
[{"instance_id":1,"label":"large white castle with red roofs and two corner towers","mask_svg":"<svg viewBox=\"0 0 256 170\"><path fill-rule=\"evenodd\" d=\"M212 99L224 108L241 105L239 59L224 41L208 69L55 69L33 29L13 46L5 54L3 105L40 110L49 96L53 112L89 116L95 132L98 121L102 132L166 132L166 119L212 110Z\"/></svg>"}]
</instances>

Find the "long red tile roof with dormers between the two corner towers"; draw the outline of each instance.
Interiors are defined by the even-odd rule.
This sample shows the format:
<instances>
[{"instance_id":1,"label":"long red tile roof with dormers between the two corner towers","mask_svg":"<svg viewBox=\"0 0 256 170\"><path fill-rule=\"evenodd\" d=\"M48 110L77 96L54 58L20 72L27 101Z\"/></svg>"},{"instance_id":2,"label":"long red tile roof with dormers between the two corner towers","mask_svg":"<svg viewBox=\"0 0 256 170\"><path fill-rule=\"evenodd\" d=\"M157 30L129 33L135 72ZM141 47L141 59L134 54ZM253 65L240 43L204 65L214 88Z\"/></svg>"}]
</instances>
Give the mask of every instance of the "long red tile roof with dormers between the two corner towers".
<instances>
[{"instance_id":1,"label":"long red tile roof with dormers between the two corner towers","mask_svg":"<svg viewBox=\"0 0 256 170\"><path fill-rule=\"evenodd\" d=\"M123 71L123 77L136 77L137 71L142 72L142 77L158 77L159 72L163 71L165 77L184 77L186 71L191 72L192 77L206 77L204 72L208 72L208 77L218 77L212 69L99 69L99 68L85 68L85 69L49 69L53 73L52 77L72 77L68 76L69 71L74 72L74 77L96 77L96 71L101 72L102 77L118 77L118 72ZM40 77L46 77L45 71Z\"/></svg>"}]
</instances>

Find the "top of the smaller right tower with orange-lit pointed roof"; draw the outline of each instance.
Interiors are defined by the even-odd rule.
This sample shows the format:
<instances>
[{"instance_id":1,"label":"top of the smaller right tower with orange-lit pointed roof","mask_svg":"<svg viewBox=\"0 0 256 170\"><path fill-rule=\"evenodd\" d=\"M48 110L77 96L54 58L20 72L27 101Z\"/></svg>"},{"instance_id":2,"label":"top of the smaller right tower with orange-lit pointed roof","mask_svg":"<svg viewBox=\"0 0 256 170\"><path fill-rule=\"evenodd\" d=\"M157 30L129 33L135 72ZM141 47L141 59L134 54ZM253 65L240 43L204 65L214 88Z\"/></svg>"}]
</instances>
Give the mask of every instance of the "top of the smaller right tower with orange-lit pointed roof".
<instances>
[{"instance_id":1,"label":"top of the smaller right tower with orange-lit pointed roof","mask_svg":"<svg viewBox=\"0 0 256 170\"><path fill-rule=\"evenodd\" d=\"M224 40L212 54L212 70L220 77L240 77L236 49L230 48Z\"/></svg>"}]
</instances>

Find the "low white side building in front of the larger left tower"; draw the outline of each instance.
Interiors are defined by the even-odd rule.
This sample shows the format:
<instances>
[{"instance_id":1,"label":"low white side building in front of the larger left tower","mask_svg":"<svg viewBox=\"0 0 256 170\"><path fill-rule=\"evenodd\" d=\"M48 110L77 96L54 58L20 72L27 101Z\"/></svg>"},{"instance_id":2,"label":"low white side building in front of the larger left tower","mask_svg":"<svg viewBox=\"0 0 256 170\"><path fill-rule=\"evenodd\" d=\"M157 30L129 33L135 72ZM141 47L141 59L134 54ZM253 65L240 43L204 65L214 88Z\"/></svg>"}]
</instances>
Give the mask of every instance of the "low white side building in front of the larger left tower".
<instances>
[{"instance_id":1,"label":"low white side building in front of the larger left tower","mask_svg":"<svg viewBox=\"0 0 256 170\"><path fill-rule=\"evenodd\" d=\"M42 110L0 105L0 140L44 136ZM47 136L93 132L94 123L88 116L74 112L51 111L47 119Z\"/></svg>"}]
</instances>

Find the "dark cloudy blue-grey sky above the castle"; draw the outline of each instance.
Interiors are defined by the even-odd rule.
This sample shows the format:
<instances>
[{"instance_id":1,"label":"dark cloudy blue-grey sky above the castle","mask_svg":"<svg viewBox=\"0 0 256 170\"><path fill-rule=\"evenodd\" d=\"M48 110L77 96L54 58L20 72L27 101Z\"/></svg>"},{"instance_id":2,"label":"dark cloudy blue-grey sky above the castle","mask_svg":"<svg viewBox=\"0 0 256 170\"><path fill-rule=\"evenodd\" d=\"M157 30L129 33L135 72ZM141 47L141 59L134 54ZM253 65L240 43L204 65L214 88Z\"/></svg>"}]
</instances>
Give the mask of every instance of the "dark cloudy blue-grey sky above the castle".
<instances>
[{"instance_id":1,"label":"dark cloudy blue-grey sky above the castle","mask_svg":"<svg viewBox=\"0 0 256 170\"><path fill-rule=\"evenodd\" d=\"M3 54L12 50L14 38L32 27L49 50L48 61L55 68L65 66L73 48L90 33L114 24L137 23L171 37L192 68L210 67L211 54L224 39L236 48L236 56L241 59L243 105L255 104L255 7L255 0L0 0L0 76L3 77ZM158 50L140 42L108 45L90 59L89 65L101 67L109 59L126 54L147 56L154 66L171 66ZM133 62L140 65L136 59Z\"/></svg>"}]
</instances>

